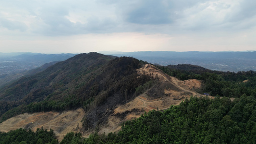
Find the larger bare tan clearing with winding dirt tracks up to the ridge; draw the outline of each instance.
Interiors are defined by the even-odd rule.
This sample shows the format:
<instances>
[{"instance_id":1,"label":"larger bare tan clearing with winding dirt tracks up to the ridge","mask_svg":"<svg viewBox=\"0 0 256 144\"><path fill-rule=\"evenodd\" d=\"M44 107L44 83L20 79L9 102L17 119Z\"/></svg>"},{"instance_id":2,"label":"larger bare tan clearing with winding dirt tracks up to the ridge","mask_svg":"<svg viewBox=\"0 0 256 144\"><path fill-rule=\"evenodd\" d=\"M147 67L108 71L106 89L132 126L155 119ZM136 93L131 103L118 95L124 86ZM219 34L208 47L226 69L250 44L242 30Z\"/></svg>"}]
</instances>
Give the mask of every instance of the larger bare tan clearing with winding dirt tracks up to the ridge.
<instances>
[{"instance_id":1,"label":"larger bare tan clearing with winding dirt tracks up to the ridge","mask_svg":"<svg viewBox=\"0 0 256 144\"><path fill-rule=\"evenodd\" d=\"M121 129L121 123L140 117L149 110L164 110L171 105L178 105L190 96L204 96L195 92L201 88L198 80L180 81L171 77L155 66L146 64L137 70L138 74L147 74L158 77L159 83L148 89L145 93L134 98L134 100L117 106L109 117L106 125L102 125L99 133L116 132ZM209 96L212 98L212 96Z\"/></svg>"}]
</instances>

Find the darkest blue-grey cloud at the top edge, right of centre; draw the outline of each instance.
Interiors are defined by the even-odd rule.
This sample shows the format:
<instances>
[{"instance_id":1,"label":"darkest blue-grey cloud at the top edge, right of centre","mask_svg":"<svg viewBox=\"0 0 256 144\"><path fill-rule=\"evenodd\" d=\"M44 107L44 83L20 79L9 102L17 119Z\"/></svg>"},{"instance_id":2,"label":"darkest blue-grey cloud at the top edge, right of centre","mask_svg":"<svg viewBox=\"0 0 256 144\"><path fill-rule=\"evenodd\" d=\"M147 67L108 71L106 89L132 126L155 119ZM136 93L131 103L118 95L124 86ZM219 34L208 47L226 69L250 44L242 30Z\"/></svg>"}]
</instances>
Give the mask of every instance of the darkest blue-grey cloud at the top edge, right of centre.
<instances>
[{"instance_id":1,"label":"darkest blue-grey cloud at the top edge, right of centre","mask_svg":"<svg viewBox=\"0 0 256 144\"><path fill-rule=\"evenodd\" d=\"M173 24L183 11L206 0L132 0L116 2L125 22L134 24ZM109 0L111 4L113 0Z\"/></svg>"}]
</instances>

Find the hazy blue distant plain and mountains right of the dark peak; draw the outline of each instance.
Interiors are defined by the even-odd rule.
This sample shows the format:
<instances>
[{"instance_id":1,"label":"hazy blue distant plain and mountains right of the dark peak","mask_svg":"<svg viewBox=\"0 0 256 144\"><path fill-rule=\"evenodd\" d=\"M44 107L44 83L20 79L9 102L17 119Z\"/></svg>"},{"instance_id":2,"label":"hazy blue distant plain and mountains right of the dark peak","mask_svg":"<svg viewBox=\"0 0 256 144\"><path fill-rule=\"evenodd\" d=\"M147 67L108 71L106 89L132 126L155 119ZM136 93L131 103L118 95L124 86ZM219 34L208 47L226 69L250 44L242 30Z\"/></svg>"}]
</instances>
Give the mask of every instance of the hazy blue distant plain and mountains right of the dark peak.
<instances>
[{"instance_id":1,"label":"hazy blue distant plain and mountains right of the dark peak","mask_svg":"<svg viewBox=\"0 0 256 144\"><path fill-rule=\"evenodd\" d=\"M217 71L256 71L256 51L234 52L175 52L175 51L102 51L100 53L113 56L134 57L139 60L145 60L150 63L157 63L163 66L177 64L192 64L202 66L210 70Z\"/></svg>"}]
</instances>

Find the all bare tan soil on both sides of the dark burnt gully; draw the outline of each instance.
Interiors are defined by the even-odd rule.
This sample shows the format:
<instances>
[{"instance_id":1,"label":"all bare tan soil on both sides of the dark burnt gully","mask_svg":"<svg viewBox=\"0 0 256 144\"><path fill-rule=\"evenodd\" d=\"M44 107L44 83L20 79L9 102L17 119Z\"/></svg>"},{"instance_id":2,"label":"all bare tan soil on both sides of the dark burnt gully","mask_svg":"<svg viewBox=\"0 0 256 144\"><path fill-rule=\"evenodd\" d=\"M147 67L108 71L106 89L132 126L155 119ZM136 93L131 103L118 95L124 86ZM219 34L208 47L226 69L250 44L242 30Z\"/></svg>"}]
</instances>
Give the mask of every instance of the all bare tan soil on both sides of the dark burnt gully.
<instances>
[{"instance_id":1,"label":"all bare tan soil on both sides of the dark burnt gully","mask_svg":"<svg viewBox=\"0 0 256 144\"><path fill-rule=\"evenodd\" d=\"M121 129L121 123L126 120L138 118L144 112L158 109L164 110L171 105L178 105L190 96L203 96L195 92L201 87L198 80L180 81L166 73L158 70L150 64L137 70L139 75L147 74L158 78L158 84L148 89L145 93L135 97L132 101L124 105L115 106L107 109L107 121L99 124L99 133L116 132ZM45 129L52 129L61 141L68 132L82 132L87 137L94 130L85 131L82 128L82 119L85 111L81 109L73 111L58 112L39 112L34 114L22 114L0 123L0 130L7 132L18 128L30 128L36 131L42 126ZM106 115L107 116L107 115Z\"/></svg>"}]
</instances>

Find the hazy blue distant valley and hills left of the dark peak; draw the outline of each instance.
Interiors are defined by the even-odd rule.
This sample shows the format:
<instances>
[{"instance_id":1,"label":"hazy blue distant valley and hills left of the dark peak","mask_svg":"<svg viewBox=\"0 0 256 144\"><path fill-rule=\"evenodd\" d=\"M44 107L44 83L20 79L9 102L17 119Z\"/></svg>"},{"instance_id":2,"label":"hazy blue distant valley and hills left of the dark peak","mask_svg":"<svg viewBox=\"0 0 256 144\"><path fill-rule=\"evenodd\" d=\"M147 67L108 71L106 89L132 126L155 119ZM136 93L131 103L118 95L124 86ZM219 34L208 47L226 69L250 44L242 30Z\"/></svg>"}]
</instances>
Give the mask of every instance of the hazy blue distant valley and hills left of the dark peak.
<instances>
[{"instance_id":1,"label":"hazy blue distant valley and hills left of the dark peak","mask_svg":"<svg viewBox=\"0 0 256 144\"><path fill-rule=\"evenodd\" d=\"M46 63L49 64L34 72L44 70L50 64L67 60L73 56L75 54L0 53L0 86L28 74L27 71L36 69Z\"/></svg>"}]
</instances>

